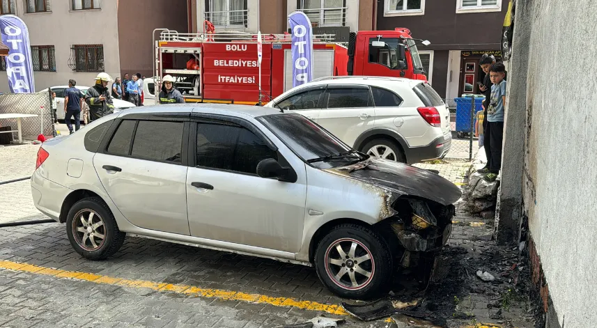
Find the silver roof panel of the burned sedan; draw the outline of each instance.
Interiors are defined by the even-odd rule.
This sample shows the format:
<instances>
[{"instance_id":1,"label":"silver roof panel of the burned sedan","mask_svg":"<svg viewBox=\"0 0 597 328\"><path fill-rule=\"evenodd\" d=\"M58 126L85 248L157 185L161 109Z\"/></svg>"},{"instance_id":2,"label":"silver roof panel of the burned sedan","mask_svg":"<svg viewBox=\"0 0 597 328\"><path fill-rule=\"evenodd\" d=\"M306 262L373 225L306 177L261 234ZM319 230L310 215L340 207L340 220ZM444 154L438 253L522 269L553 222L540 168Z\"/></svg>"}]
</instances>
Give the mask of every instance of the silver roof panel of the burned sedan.
<instances>
[{"instance_id":1,"label":"silver roof panel of the burned sedan","mask_svg":"<svg viewBox=\"0 0 597 328\"><path fill-rule=\"evenodd\" d=\"M118 117L130 114L164 114L164 113L204 113L220 114L225 116L245 116L256 118L259 116L268 116L282 114L278 109L271 107L249 106L245 104L164 104L144 107L134 107L121 111Z\"/></svg>"}]
</instances>

